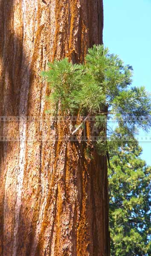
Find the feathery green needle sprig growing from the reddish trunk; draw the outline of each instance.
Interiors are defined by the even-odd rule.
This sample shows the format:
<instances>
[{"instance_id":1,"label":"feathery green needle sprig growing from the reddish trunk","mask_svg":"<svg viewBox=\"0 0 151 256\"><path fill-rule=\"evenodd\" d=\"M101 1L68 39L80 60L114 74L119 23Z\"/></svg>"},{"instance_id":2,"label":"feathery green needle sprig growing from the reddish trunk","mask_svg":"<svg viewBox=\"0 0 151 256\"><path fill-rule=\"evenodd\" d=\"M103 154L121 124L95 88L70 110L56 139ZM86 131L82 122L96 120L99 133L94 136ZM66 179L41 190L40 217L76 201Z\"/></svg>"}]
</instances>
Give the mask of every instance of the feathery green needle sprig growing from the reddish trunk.
<instances>
[{"instance_id":1,"label":"feathery green needle sprig growing from the reddish trunk","mask_svg":"<svg viewBox=\"0 0 151 256\"><path fill-rule=\"evenodd\" d=\"M132 67L124 65L103 45L94 45L88 50L85 64L73 65L65 58L49 63L48 67L49 70L41 73L51 89L47 96L48 112L58 114L59 110L62 115L97 116L96 126L104 131L104 136L105 120L110 117L132 137L136 127L147 129L151 126L150 95L144 87L129 88ZM97 143L99 152L107 145L101 140L102 134Z\"/></svg>"}]
</instances>

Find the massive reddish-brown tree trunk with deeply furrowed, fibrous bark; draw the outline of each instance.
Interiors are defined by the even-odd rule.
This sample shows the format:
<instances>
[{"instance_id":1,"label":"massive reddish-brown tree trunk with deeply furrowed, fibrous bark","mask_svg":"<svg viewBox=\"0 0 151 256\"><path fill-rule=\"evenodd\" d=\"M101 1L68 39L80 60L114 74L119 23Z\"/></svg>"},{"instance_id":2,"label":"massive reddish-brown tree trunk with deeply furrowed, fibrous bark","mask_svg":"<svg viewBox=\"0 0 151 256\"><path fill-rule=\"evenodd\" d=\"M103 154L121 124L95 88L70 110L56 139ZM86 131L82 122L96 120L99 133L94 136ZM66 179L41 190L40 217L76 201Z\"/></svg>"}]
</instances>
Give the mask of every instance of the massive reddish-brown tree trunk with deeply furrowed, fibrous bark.
<instances>
[{"instance_id":1,"label":"massive reddish-brown tree trunk with deeply furrowed, fibrous bark","mask_svg":"<svg viewBox=\"0 0 151 256\"><path fill-rule=\"evenodd\" d=\"M22 116L0 122L19 138L0 142L0 256L109 256L106 157L55 141L68 130L39 77L54 58L84 61L102 29L102 0L0 0L0 116Z\"/></svg>"}]
</instances>

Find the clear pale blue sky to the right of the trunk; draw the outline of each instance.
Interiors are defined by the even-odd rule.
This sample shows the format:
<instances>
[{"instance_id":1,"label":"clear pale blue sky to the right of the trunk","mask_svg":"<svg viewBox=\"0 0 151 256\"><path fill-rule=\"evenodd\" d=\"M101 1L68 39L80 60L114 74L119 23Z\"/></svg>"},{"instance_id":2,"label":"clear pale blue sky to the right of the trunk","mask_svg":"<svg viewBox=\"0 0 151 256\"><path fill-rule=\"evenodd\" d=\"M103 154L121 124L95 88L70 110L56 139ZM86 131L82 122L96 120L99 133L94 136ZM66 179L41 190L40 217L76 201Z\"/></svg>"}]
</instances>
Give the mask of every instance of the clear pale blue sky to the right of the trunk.
<instances>
[{"instance_id":1,"label":"clear pale blue sky to the right of the trunk","mask_svg":"<svg viewBox=\"0 0 151 256\"><path fill-rule=\"evenodd\" d=\"M151 0L104 0L103 42L134 69L134 86L151 92ZM151 165L151 131L136 136Z\"/></svg>"}]
</instances>

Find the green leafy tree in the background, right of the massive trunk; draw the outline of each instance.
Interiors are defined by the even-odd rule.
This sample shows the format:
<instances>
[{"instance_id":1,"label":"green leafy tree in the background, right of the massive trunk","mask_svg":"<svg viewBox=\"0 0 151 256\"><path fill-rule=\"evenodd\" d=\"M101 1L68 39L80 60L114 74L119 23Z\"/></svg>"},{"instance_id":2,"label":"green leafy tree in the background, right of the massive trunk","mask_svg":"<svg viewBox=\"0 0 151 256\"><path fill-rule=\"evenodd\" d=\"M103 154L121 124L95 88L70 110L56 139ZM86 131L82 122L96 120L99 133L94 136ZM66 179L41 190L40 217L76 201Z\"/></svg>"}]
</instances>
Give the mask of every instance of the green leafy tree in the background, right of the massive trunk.
<instances>
[{"instance_id":1,"label":"green leafy tree in the background, right of the massive trunk","mask_svg":"<svg viewBox=\"0 0 151 256\"><path fill-rule=\"evenodd\" d=\"M151 166L136 140L120 129L110 147L111 256L151 255ZM116 145L116 146L115 146Z\"/></svg>"}]
</instances>

